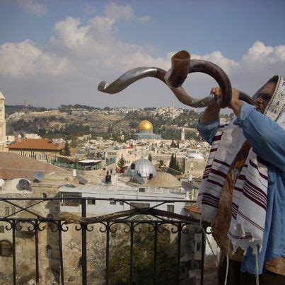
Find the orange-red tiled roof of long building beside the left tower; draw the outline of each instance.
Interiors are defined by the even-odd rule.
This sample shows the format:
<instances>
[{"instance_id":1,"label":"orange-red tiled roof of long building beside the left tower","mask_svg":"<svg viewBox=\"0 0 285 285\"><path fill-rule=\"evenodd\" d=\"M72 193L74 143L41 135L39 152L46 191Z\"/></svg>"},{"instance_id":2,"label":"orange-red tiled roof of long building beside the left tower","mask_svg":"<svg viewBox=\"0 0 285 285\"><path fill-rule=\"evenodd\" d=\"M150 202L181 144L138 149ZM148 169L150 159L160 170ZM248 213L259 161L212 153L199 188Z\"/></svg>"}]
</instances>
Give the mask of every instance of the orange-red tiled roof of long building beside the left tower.
<instances>
[{"instance_id":1,"label":"orange-red tiled roof of long building beside the left tower","mask_svg":"<svg viewBox=\"0 0 285 285\"><path fill-rule=\"evenodd\" d=\"M49 139L23 139L16 144L7 146L8 149L38 149L45 151L59 151L64 148L64 145L57 146Z\"/></svg>"}]
</instances>

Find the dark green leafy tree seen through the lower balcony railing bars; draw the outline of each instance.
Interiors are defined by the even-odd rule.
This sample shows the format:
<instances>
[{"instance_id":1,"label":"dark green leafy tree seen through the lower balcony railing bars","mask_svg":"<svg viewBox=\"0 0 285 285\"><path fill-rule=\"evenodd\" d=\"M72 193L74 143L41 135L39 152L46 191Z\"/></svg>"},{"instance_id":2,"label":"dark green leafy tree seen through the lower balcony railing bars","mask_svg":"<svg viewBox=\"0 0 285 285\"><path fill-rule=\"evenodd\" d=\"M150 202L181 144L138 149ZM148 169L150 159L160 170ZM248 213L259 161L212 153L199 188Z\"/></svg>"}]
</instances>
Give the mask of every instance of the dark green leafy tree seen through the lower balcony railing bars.
<instances>
[{"instance_id":1,"label":"dark green leafy tree seen through the lower balcony railing bars","mask_svg":"<svg viewBox=\"0 0 285 285\"><path fill-rule=\"evenodd\" d=\"M153 239L149 226L141 224L139 233L134 233L134 271L132 284L153 284ZM137 229L137 228L136 228ZM116 241L110 257L110 284L129 284L129 235ZM156 275L158 284L176 284L177 256L170 242L170 231L160 228L157 240Z\"/></svg>"}]
</instances>

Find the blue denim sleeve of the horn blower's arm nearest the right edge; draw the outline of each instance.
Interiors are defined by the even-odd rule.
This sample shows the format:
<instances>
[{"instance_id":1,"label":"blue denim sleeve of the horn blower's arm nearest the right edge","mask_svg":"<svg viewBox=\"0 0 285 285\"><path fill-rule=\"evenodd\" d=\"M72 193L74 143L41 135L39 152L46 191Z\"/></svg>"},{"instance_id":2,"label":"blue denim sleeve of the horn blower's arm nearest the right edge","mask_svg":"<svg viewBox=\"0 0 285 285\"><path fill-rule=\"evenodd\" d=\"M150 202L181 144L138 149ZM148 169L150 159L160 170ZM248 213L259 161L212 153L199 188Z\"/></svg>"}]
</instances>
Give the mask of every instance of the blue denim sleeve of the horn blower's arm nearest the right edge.
<instances>
[{"instance_id":1,"label":"blue denim sleeve of the horn blower's arm nearest the right edge","mask_svg":"<svg viewBox=\"0 0 285 285\"><path fill-rule=\"evenodd\" d=\"M254 106L243 103L234 124L243 129L244 136L258 156L285 170L285 130L277 122L257 112Z\"/></svg>"}]
</instances>

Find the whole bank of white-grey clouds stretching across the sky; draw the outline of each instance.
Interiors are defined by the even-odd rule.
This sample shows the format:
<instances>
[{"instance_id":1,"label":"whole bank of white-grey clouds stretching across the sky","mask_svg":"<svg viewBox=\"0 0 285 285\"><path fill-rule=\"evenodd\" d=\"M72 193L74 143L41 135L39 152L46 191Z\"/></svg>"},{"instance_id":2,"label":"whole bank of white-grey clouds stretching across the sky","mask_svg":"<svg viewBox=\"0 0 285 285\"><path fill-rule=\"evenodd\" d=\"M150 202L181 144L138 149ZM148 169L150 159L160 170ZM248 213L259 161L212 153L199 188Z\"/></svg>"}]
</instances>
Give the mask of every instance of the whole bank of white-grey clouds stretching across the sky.
<instances>
[{"instance_id":1,"label":"whole bank of white-grey clouds stretching across the sky","mask_svg":"<svg viewBox=\"0 0 285 285\"><path fill-rule=\"evenodd\" d=\"M37 100L37 105L44 102L42 94L53 94L54 105L145 106L146 102L149 106L168 105L172 93L163 83L151 78L134 83L120 95L109 96L96 91L100 81L113 81L138 66L170 68L170 58L175 52L157 57L153 54L158 54L158 51L153 52L155 49L150 45L122 42L117 38L117 21L132 18L134 11L130 6L112 3L103 14L94 16L87 23L72 17L57 22L50 46L40 47L31 40L6 42L0 46L0 76L6 78L4 87L11 94L18 95L14 88L20 86L18 89L26 90L25 93L31 96L28 100ZM239 61L226 57L219 50L191 56L192 59L204 59L221 66L233 86L250 93L272 75L284 72L285 45L271 47L255 42ZM25 83L21 78L25 78ZM211 86L216 85L209 76L202 74L191 75L191 78L185 81L185 88L189 88L194 97L208 94Z\"/></svg>"}]
</instances>

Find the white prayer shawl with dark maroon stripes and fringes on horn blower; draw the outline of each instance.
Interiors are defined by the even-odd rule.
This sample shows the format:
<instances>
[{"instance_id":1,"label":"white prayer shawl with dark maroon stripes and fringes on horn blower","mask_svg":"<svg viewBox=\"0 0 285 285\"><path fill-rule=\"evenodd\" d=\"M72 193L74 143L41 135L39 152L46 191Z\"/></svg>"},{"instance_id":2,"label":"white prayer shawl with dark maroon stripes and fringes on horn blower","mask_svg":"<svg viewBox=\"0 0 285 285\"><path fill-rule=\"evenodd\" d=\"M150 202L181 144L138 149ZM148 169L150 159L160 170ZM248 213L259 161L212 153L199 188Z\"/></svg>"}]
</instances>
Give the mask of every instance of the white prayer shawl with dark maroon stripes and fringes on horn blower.
<instances>
[{"instance_id":1,"label":"white prayer shawl with dark maroon stripes and fringes on horn blower","mask_svg":"<svg viewBox=\"0 0 285 285\"><path fill-rule=\"evenodd\" d=\"M264 115L285 126L285 81L279 76L277 88ZM245 142L242 129L230 124L220 125L212 141L211 151L204 170L197 204L202 209L202 220L211 222L216 216L226 175L240 147ZM250 245L262 248L262 238L267 210L267 163L252 149L233 187L231 224L228 238L234 250L247 250Z\"/></svg>"}]
</instances>

